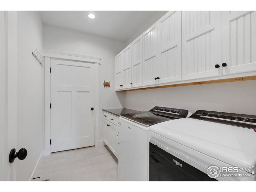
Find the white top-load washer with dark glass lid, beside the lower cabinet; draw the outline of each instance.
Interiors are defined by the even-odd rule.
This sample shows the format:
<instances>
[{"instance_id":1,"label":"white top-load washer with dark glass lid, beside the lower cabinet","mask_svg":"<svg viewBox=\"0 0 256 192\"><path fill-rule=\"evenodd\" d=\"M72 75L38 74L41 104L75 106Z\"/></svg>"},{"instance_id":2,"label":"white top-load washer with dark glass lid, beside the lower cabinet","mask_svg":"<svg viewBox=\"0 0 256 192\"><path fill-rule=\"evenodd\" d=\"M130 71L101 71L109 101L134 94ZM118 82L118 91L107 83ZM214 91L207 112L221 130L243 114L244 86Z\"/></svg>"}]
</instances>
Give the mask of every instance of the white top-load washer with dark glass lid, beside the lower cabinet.
<instances>
[{"instance_id":1,"label":"white top-load washer with dark glass lid, beside the lower cabinet","mask_svg":"<svg viewBox=\"0 0 256 192\"><path fill-rule=\"evenodd\" d=\"M148 128L165 121L185 118L188 110L154 107L150 111L119 117L118 180L148 180Z\"/></svg>"}]
</instances>

